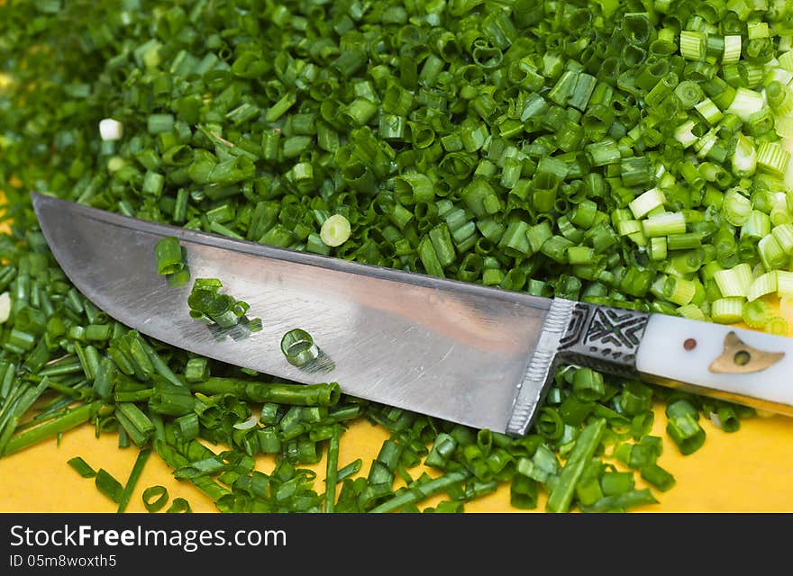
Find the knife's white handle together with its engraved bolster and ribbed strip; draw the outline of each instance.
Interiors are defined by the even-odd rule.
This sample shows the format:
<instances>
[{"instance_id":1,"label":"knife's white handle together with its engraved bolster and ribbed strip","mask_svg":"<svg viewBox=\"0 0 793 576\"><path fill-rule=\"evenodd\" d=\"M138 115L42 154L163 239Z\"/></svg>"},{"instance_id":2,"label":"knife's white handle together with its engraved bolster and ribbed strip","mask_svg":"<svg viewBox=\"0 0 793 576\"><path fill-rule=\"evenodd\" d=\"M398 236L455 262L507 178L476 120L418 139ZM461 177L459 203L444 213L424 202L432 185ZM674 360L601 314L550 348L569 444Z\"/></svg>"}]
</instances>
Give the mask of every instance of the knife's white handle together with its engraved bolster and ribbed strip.
<instances>
[{"instance_id":1,"label":"knife's white handle together with its engraved bolster and ribbed strip","mask_svg":"<svg viewBox=\"0 0 793 576\"><path fill-rule=\"evenodd\" d=\"M562 364L793 415L793 338L554 299L508 432L525 434Z\"/></svg>"}]
</instances>

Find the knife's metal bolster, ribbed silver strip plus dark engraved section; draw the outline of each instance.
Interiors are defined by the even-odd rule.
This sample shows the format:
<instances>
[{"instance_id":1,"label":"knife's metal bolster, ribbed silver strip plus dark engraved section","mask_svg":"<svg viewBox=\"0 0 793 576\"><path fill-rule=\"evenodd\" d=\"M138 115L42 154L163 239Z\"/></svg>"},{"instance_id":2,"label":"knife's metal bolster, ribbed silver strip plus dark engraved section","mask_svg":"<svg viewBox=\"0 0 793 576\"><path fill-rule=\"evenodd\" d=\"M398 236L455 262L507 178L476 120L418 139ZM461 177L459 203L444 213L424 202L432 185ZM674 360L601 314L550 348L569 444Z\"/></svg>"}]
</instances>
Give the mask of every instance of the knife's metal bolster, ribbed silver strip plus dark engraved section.
<instances>
[{"instance_id":1,"label":"knife's metal bolster, ribbed silver strip plus dark engraved section","mask_svg":"<svg viewBox=\"0 0 793 576\"><path fill-rule=\"evenodd\" d=\"M515 395L507 434L526 433L560 364L637 377L636 351L649 319L645 312L554 299Z\"/></svg>"}]
</instances>

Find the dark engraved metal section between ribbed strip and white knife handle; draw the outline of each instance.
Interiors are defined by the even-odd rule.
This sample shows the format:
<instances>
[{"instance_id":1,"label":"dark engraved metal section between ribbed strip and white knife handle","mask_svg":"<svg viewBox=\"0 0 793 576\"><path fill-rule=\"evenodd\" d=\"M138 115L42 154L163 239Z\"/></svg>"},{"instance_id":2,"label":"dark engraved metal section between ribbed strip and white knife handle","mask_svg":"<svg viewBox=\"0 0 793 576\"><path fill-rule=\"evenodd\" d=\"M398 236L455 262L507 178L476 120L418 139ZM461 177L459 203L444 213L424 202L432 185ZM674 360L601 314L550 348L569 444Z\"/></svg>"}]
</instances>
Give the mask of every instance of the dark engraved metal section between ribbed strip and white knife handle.
<instances>
[{"instance_id":1,"label":"dark engraved metal section between ribbed strip and white knife handle","mask_svg":"<svg viewBox=\"0 0 793 576\"><path fill-rule=\"evenodd\" d=\"M635 374L636 351L649 314L579 302L560 355L570 362L615 374Z\"/></svg>"}]
</instances>

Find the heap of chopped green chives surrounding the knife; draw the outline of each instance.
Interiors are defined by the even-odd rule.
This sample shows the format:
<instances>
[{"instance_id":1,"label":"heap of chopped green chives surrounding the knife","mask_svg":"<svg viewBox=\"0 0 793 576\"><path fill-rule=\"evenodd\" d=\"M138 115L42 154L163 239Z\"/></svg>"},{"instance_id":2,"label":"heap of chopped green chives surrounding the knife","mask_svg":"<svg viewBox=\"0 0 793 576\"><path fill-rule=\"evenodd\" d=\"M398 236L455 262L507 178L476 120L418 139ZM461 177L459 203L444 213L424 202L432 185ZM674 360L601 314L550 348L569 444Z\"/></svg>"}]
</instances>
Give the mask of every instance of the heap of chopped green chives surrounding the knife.
<instances>
[{"instance_id":1,"label":"heap of chopped green chives surrounding the knife","mask_svg":"<svg viewBox=\"0 0 793 576\"><path fill-rule=\"evenodd\" d=\"M752 415L568 366L529 434L511 438L195 357L79 294L27 191L784 335L773 303L793 295L784 0L2 10L0 218L12 224L0 235L0 455L90 423L121 447L150 446L222 511L456 512L506 486L517 509L544 493L548 510L597 512L674 485L651 434L657 403L682 454L706 441L703 417L733 432ZM170 248L165 275L179 273ZM358 419L390 434L368 470L338 462ZM262 454L272 470L255 468ZM324 456L323 487L301 466Z\"/></svg>"}]
</instances>

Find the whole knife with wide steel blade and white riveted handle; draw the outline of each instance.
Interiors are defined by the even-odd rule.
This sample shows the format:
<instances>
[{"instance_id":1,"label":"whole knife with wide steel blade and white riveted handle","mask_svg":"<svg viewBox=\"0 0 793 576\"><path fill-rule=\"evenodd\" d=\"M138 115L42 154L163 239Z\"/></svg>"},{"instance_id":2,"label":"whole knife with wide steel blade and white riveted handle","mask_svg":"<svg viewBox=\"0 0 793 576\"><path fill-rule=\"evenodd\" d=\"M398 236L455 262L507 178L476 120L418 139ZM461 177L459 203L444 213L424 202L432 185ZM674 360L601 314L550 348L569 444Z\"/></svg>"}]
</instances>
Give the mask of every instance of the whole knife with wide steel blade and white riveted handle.
<instances>
[{"instance_id":1,"label":"whole knife with wide steel blade and white riveted handle","mask_svg":"<svg viewBox=\"0 0 793 576\"><path fill-rule=\"evenodd\" d=\"M68 279L141 334L296 383L474 428L524 435L558 366L793 415L793 338L362 265L152 223L32 193ZM157 273L155 244L176 236L192 278L218 278L250 304L258 331L190 316L192 282ZM284 335L305 330L320 362L293 365Z\"/></svg>"}]
</instances>

